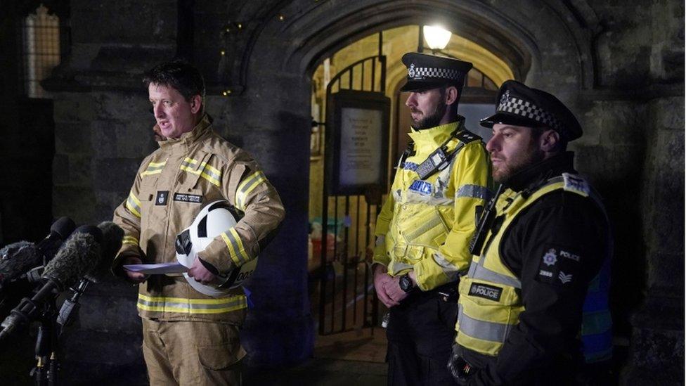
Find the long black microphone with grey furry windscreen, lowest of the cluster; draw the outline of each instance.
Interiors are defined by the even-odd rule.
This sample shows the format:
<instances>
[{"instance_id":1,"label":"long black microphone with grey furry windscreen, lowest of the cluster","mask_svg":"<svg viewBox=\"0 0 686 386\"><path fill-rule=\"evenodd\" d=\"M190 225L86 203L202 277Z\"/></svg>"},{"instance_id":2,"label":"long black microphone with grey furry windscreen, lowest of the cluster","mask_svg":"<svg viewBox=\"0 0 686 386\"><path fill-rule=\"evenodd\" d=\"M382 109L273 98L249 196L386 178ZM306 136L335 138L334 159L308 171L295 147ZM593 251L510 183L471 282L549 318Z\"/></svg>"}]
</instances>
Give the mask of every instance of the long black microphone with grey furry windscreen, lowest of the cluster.
<instances>
[{"instance_id":1,"label":"long black microphone with grey furry windscreen, lowest of the cluster","mask_svg":"<svg viewBox=\"0 0 686 386\"><path fill-rule=\"evenodd\" d=\"M46 264L42 276L46 283L43 287L31 299L25 297L0 324L0 340L11 335L19 326L37 319L46 302L101 264L102 241L103 233L96 226L80 226L74 231L55 258Z\"/></svg>"}]
</instances>

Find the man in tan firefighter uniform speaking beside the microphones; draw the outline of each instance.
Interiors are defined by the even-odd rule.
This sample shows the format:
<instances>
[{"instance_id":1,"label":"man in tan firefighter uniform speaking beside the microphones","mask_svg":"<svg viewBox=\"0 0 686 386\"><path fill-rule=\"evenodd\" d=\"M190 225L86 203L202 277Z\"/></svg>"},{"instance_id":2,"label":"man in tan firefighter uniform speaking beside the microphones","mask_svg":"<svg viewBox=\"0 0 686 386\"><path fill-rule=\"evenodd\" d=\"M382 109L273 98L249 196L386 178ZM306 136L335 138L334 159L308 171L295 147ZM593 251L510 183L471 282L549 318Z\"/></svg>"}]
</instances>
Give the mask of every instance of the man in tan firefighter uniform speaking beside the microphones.
<instances>
[{"instance_id":1,"label":"man in tan firefighter uniform speaking beside the microphones","mask_svg":"<svg viewBox=\"0 0 686 386\"><path fill-rule=\"evenodd\" d=\"M125 234L112 268L141 283L137 307L152 385L239 385L243 290L209 297L182 276L148 277L122 265L176 262L176 235L202 205L228 200L242 214L240 221L199 252L188 271L196 281L210 283L259 254L284 217L283 205L252 157L212 130L197 69L163 63L144 83L160 148L143 160L129 197L115 210L114 221Z\"/></svg>"}]
</instances>

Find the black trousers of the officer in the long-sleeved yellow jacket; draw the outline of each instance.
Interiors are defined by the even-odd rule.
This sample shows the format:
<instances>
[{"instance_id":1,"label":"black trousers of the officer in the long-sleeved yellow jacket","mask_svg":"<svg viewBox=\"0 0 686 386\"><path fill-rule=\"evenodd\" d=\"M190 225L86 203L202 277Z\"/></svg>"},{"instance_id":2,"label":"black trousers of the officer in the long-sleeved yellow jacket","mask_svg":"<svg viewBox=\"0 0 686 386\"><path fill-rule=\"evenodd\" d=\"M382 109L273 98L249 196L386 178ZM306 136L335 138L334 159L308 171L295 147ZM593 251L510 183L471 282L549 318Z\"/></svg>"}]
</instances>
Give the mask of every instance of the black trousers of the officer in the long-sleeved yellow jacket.
<instances>
[{"instance_id":1,"label":"black trousers of the officer in the long-sleeved yellow jacket","mask_svg":"<svg viewBox=\"0 0 686 386\"><path fill-rule=\"evenodd\" d=\"M446 302L439 292L456 290L449 283L431 291L415 288L389 310L388 385L453 385L448 359L455 337L457 300Z\"/></svg>"}]
</instances>

